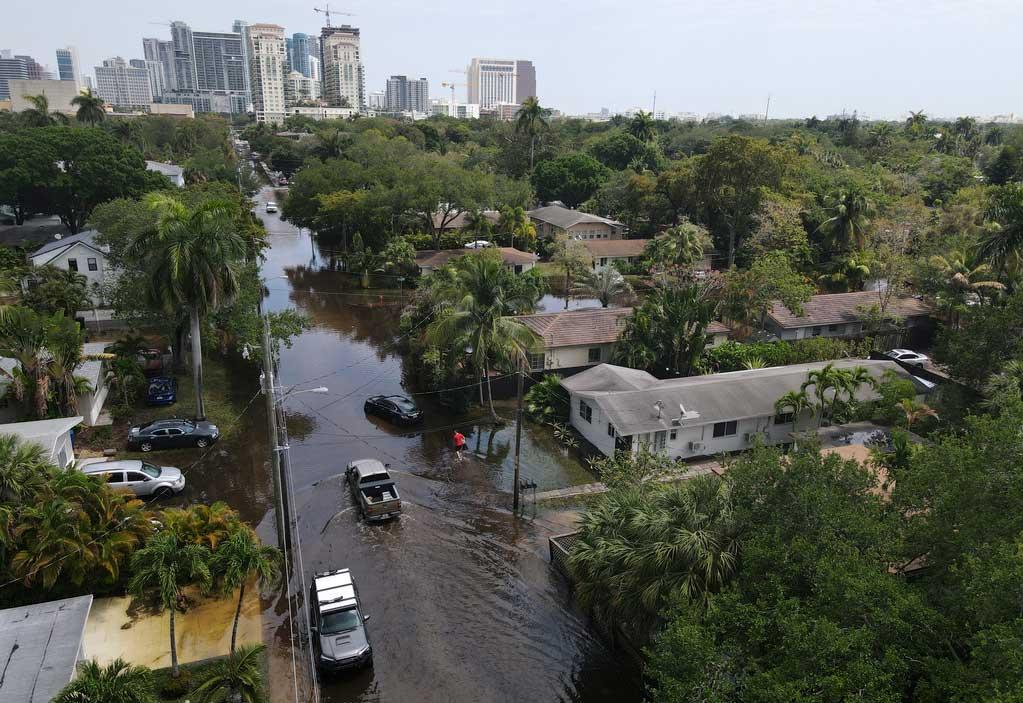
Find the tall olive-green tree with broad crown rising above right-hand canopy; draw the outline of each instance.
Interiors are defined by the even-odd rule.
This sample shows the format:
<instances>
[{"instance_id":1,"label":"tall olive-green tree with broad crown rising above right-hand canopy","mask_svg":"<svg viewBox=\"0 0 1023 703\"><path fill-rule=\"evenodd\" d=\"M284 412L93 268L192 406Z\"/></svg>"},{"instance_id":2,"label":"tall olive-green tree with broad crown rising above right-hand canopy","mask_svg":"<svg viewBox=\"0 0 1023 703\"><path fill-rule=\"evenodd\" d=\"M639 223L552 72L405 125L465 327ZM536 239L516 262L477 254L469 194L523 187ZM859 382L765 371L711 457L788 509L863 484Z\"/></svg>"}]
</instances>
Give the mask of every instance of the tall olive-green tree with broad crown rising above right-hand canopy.
<instances>
[{"instance_id":1,"label":"tall olive-green tree with broad crown rising above right-hand canopy","mask_svg":"<svg viewBox=\"0 0 1023 703\"><path fill-rule=\"evenodd\" d=\"M711 143L697 166L697 182L713 225L724 229L728 267L753 227L767 189L779 189L788 160L762 139L738 135Z\"/></svg>"}]
</instances>

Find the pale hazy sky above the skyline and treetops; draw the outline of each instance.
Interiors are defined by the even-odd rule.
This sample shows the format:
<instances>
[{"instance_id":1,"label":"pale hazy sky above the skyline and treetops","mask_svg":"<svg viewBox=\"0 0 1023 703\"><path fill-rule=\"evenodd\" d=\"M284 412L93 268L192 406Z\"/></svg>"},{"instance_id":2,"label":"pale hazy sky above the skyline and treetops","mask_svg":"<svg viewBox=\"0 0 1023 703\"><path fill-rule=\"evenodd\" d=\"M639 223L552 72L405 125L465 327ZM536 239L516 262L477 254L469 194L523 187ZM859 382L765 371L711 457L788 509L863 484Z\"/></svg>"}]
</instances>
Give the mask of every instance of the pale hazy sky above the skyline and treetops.
<instances>
[{"instance_id":1,"label":"pale hazy sky above the skyline and treetops","mask_svg":"<svg viewBox=\"0 0 1023 703\"><path fill-rule=\"evenodd\" d=\"M322 0L8 0L0 48L55 68L141 57L171 19L230 31L234 18L318 34ZM528 58L546 105L898 118L1023 115L1023 0L338 0L362 29L366 89L426 76L431 97L473 56ZM463 96L464 89L458 94Z\"/></svg>"}]
</instances>

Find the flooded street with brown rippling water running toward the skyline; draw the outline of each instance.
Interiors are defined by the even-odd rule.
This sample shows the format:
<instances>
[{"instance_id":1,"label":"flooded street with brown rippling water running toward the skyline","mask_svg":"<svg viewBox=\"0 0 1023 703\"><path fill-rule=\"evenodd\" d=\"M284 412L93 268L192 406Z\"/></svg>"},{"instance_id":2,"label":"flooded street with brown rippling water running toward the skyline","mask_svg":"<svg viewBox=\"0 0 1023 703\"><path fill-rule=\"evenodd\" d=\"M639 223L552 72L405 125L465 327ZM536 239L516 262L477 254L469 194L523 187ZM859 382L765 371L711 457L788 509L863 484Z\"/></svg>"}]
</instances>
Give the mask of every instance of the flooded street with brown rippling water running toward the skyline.
<instances>
[{"instance_id":1,"label":"flooded street with brown rippling water running toward the skyline","mask_svg":"<svg viewBox=\"0 0 1023 703\"><path fill-rule=\"evenodd\" d=\"M263 266L267 309L294 307L313 327L280 352L279 383L327 393L293 393L286 402L291 434L294 514L301 558L292 587L302 589L318 570L349 567L370 617L374 666L347 677L321 679L324 701L586 701L639 700L634 669L608 651L570 606L567 588L550 570L548 524L526 496L526 517L510 507L515 425L492 428L479 408L456 415L429 395L415 395L427 422L409 433L363 412L368 395L403 393L402 359L394 348L398 293L363 294L329 270L308 232L257 210L270 232ZM546 305L558 304L547 299ZM550 308L548 308L550 309ZM260 399L260 402L262 399ZM514 408L499 409L513 416ZM253 423L262 414L251 412ZM454 460L453 428L468 438L465 460ZM262 426L246 432L237 474L207 487L260 525L272 540L272 494ZM264 454L265 455L265 454ZM391 464L404 512L385 525L361 523L341 474L355 458ZM522 474L538 490L593 480L549 434L526 427ZM303 615L298 615L304 619ZM286 651L286 599L270 604L265 627ZM291 698L291 658L274 652L275 700ZM308 654L296 669L301 700L309 696ZM286 697L286 698L285 698Z\"/></svg>"}]
</instances>

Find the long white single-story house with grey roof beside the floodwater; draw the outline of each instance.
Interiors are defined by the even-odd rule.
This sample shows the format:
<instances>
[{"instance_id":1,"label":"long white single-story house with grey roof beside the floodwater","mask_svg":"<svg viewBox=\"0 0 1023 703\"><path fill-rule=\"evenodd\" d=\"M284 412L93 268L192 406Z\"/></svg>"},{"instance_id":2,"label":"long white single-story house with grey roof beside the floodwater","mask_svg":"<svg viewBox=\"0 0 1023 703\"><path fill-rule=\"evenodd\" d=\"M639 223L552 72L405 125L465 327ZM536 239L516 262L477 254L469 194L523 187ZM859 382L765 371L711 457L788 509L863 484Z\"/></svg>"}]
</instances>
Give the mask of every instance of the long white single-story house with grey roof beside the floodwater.
<instances>
[{"instance_id":1,"label":"long white single-story house with grey roof beside the floodwater","mask_svg":"<svg viewBox=\"0 0 1023 703\"><path fill-rule=\"evenodd\" d=\"M787 443L791 413L777 414L775 401L799 391L807 374L828 362L754 368L727 374L659 380L633 368L602 364L562 381L571 398L569 422L604 454L636 452L647 446L672 458L739 451L755 442ZM838 368L862 366L875 379L893 371L913 377L894 361L842 359ZM877 397L871 386L856 394ZM815 429L811 410L795 419L797 432Z\"/></svg>"}]
</instances>

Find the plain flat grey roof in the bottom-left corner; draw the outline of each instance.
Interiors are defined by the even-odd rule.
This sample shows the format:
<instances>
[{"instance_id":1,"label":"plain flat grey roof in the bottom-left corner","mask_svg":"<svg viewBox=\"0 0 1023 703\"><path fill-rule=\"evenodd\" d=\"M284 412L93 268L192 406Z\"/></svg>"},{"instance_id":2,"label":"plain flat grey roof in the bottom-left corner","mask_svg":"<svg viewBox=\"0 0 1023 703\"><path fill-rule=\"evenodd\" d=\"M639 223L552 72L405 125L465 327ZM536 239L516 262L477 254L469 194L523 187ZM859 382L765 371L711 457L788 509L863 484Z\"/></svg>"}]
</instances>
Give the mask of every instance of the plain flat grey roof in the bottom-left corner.
<instances>
[{"instance_id":1,"label":"plain flat grey roof in the bottom-left corner","mask_svg":"<svg viewBox=\"0 0 1023 703\"><path fill-rule=\"evenodd\" d=\"M0 699L49 703L75 677L92 596L0 610Z\"/></svg>"}]
</instances>

